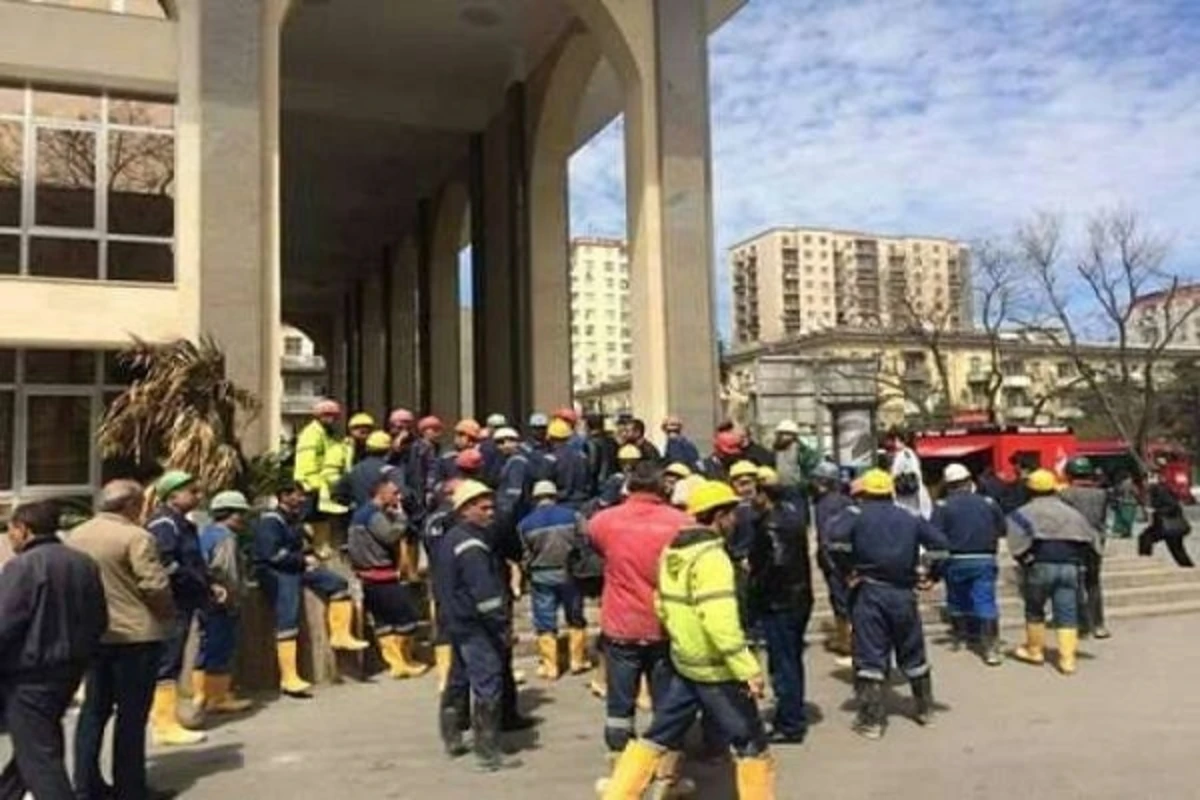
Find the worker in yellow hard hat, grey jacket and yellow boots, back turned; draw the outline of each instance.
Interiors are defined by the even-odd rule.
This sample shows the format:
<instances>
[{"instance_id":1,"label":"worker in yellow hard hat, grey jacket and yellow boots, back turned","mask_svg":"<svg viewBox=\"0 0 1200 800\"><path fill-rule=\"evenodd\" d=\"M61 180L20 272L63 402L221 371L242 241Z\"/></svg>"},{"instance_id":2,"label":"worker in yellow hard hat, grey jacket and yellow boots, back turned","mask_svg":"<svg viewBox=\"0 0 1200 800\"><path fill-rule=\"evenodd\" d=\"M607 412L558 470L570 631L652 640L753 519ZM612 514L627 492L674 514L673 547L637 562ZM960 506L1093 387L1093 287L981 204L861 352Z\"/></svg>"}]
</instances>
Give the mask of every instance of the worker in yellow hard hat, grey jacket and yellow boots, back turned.
<instances>
[{"instance_id":1,"label":"worker in yellow hard hat, grey jacket and yellow boots, back turned","mask_svg":"<svg viewBox=\"0 0 1200 800\"><path fill-rule=\"evenodd\" d=\"M1045 607L1058 628L1058 670L1075 672L1079 648L1079 571L1090 553L1103 549L1100 533L1058 498L1058 477L1036 469L1025 479L1030 499L1008 515L1008 552L1025 569L1025 644L1014 655L1045 663Z\"/></svg>"}]
</instances>

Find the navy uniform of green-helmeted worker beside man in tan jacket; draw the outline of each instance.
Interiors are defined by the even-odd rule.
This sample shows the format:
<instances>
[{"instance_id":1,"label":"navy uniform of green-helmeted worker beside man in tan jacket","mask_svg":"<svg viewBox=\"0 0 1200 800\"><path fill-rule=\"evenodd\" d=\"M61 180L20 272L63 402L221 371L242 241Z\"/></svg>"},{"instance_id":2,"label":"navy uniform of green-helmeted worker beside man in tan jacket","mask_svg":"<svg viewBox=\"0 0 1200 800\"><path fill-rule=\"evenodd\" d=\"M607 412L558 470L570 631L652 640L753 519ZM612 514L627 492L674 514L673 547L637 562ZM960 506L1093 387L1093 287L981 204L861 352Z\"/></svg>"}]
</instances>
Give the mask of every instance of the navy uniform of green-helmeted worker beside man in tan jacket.
<instances>
[{"instance_id":1,"label":"navy uniform of green-helmeted worker beside man in tan jacket","mask_svg":"<svg viewBox=\"0 0 1200 800\"><path fill-rule=\"evenodd\" d=\"M146 523L158 545L158 560L170 579L170 594L175 601L175 620L163 642L158 660L158 680L178 680L184 670L184 648L192 630L192 618L209 604L209 565L200 549L200 535L196 525L175 509L162 505Z\"/></svg>"}]
</instances>

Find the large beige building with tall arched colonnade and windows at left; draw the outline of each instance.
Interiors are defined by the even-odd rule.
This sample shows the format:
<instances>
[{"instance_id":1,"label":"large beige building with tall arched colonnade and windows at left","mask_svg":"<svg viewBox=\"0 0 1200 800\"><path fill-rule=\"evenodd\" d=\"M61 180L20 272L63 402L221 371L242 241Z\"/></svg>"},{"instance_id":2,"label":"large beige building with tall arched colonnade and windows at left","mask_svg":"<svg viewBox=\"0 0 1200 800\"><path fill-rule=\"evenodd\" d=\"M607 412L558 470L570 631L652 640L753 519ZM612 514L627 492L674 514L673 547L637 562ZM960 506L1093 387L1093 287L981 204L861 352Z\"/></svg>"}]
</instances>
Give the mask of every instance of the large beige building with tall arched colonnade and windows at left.
<instances>
[{"instance_id":1,"label":"large beige building with tall arched colonnade and windows at left","mask_svg":"<svg viewBox=\"0 0 1200 800\"><path fill-rule=\"evenodd\" d=\"M536 5L0 0L0 503L100 480L131 336L212 337L247 452L281 320L352 409L568 403L566 164L620 112L634 396L715 419L707 42L742 0Z\"/></svg>"}]
</instances>

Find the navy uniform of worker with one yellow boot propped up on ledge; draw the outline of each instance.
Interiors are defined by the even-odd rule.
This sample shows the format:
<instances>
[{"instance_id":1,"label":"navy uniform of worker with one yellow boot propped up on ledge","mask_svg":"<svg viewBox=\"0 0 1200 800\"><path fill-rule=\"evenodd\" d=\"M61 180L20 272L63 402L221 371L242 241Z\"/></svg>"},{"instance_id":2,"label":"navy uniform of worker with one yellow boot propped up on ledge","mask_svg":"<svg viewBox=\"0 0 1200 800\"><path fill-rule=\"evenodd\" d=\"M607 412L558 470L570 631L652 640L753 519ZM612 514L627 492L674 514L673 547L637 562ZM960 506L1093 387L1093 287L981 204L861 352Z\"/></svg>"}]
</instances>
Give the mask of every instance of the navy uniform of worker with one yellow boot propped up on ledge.
<instances>
[{"instance_id":1,"label":"navy uniform of worker with one yellow boot propped up on ledge","mask_svg":"<svg viewBox=\"0 0 1200 800\"><path fill-rule=\"evenodd\" d=\"M350 596L346 579L325 567L307 569L304 528L280 510L268 511L254 524L254 569L258 583L275 608L275 638L300 636L301 593L312 589L325 600Z\"/></svg>"}]
</instances>

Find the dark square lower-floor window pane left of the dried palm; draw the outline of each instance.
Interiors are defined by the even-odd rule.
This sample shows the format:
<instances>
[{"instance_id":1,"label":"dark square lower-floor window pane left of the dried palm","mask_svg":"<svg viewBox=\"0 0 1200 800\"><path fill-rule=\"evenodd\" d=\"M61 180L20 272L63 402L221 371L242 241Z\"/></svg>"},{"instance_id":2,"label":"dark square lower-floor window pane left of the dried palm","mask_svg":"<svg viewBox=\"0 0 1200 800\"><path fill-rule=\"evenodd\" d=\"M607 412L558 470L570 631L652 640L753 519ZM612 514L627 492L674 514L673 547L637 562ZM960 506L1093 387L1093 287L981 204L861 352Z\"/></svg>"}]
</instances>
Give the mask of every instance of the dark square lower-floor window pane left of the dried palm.
<instances>
[{"instance_id":1,"label":"dark square lower-floor window pane left of the dried palm","mask_svg":"<svg viewBox=\"0 0 1200 800\"><path fill-rule=\"evenodd\" d=\"M91 397L31 396L25 482L70 486L89 482L91 463Z\"/></svg>"}]
</instances>

